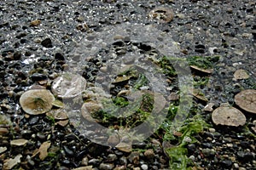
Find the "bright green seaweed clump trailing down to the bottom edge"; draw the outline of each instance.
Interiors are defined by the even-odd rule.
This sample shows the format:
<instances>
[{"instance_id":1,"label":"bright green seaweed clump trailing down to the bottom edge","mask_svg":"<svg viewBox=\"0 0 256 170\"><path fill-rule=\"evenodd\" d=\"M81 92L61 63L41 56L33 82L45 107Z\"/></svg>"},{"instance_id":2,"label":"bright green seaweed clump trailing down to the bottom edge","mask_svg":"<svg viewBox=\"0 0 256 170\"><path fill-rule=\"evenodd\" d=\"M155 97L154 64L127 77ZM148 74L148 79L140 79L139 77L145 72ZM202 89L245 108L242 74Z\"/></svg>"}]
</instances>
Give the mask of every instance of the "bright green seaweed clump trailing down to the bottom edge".
<instances>
[{"instance_id":1,"label":"bright green seaweed clump trailing down to the bottom edge","mask_svg":"<svg viewBox=\"0 0 256 170\"><path fill-rule=\"evenodd\" d=\"M182 135L175 137L173 135L173 126L175 126L175 122L172 122L172 120L174 116L176 116L178 109L179 106L171 104L169 107L167 119L161 125L161 128L166 131L163 140L176 144L171 148L164 148L164 150L170 158L170 169L191 169L191 167L189 167L191 161L187 156L186 146L187 144L196 143L197 139L194 137L195 134L201 133L203 129L209 125L207 122L203 121L200 115L195 115L191 118L187 118L187 120L183 122L183 126L177 129L177 131L182 133ZM196 110L196 108L194 109Z\"/></svg>"}]
</instances>

